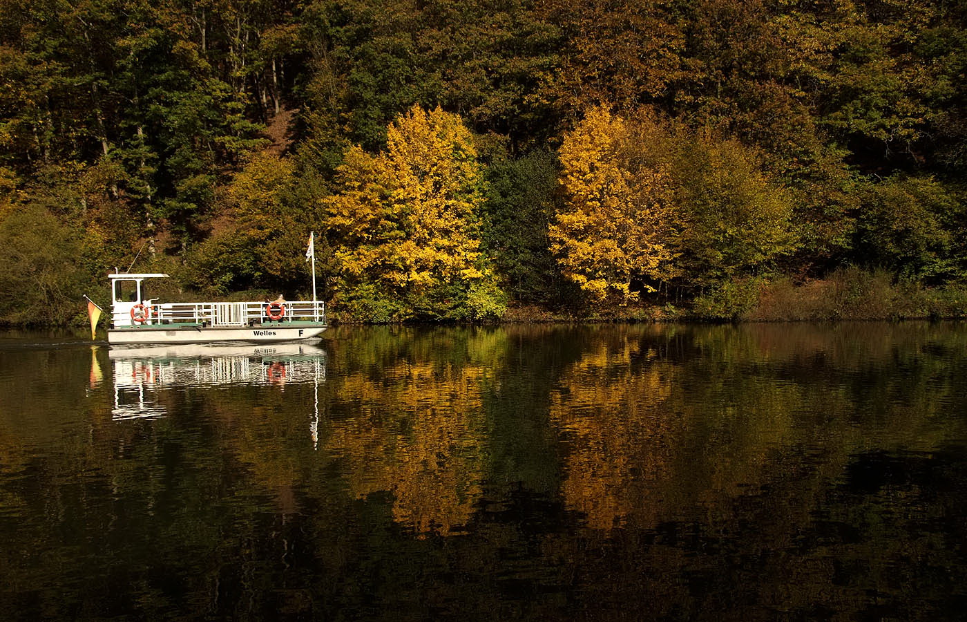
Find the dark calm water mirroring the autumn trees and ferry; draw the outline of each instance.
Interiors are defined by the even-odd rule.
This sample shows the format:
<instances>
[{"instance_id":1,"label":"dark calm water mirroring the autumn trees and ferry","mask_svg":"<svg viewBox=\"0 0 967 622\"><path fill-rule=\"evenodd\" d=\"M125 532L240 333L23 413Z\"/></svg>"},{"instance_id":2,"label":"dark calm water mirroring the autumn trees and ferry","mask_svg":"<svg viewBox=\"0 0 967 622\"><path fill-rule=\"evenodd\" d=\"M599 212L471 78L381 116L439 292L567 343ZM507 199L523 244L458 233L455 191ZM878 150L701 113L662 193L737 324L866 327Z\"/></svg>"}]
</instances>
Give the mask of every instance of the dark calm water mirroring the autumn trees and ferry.
<instances>
[{"instance_id":1,"label":"dark calm water mirroring the autumn trees and ferry","mask_svg":"<svg viewBox=\"0 0 967 622\"><path fill-rule=\"evenodd\" d=\"M0 619L967 610L967 326L0 335Z\"/></svg>"}]
</instances>

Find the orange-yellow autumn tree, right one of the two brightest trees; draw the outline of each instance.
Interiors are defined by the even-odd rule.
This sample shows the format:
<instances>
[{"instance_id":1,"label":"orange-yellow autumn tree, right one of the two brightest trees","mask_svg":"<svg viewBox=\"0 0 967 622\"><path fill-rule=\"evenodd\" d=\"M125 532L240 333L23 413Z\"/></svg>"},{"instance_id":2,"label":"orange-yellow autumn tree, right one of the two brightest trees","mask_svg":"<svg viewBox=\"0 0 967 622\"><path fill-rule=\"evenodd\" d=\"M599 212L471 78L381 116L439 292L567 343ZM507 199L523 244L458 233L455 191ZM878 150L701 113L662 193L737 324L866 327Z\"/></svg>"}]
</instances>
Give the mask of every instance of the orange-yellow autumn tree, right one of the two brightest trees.
<instances>
[{"instance_id":1,"label":"orange-yellow autumn tree, right one of the two brightest trees","mask_svg":"<svg viewBox=\"0 0 967 622\"><path fill-rule=\"evenodd\" d=\"M590 110L561 145L564 210L550 227L565 276L599 303L627 304L672 257L666 166L645 158L647 123ZM632 285L635 285L632 287Z\"/></svg>"}]
</instances>

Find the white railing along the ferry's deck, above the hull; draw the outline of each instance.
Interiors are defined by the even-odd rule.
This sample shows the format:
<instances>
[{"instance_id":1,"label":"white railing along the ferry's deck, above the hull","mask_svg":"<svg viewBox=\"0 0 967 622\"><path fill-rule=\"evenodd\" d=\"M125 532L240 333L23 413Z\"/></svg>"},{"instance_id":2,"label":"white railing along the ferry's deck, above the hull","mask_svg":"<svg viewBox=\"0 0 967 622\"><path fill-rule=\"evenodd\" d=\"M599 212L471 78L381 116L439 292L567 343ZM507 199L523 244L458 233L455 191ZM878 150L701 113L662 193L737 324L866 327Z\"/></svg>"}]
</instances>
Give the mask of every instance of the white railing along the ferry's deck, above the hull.
<instances>
[{"instance_id":1,"label":"white railing along the ferry's deck, above the hull","mask_svg":"<svg viewBox=\"0 0 967 622\"><path fill-rule=\"evenodd\" d=\"M151 310L150 317L140 324L132 323L130 311L113 313L114 326L153 326L158 324L201 324L205 326L251 326L292 321L324 322L326 304L321 301L286 301L281 310L269 303L163 303L145 305ZM281 312L281 317L272 319Z\"/></svg>"}]
</instances>

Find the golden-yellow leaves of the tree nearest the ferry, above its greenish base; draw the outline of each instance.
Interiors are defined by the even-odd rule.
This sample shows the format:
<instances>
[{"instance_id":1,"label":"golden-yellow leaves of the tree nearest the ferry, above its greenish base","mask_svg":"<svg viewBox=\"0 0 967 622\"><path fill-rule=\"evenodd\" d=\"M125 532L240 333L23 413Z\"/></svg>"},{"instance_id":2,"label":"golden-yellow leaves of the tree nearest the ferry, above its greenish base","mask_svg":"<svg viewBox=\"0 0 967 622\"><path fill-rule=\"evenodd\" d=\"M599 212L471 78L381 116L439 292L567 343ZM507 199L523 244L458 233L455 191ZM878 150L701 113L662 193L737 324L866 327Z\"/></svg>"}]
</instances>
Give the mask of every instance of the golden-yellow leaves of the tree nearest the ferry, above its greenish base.
<instances>
[{"instance_id":1,"label":"golden-yellow leaves of the tree nearest the ferry, above its greenish base","mask_svg":"<svg viewBox=\"0 0 967 622\"><path fill-rule=\"evenodd\" d=\"M338 169L339 193L325 199L344 277L423 290L484 276L477 211L483 178L473 137L456 115L412 107L370 156L353 147Z\"/></svg>"}]
</instances>

